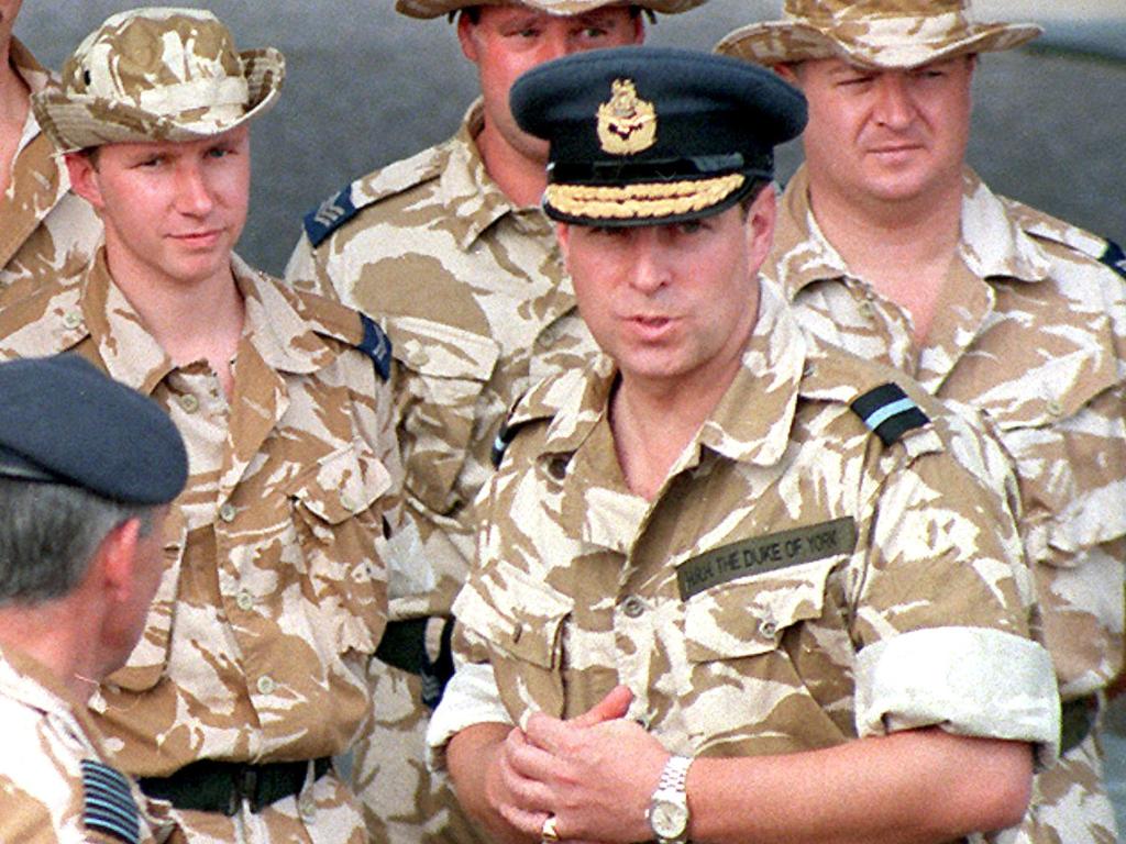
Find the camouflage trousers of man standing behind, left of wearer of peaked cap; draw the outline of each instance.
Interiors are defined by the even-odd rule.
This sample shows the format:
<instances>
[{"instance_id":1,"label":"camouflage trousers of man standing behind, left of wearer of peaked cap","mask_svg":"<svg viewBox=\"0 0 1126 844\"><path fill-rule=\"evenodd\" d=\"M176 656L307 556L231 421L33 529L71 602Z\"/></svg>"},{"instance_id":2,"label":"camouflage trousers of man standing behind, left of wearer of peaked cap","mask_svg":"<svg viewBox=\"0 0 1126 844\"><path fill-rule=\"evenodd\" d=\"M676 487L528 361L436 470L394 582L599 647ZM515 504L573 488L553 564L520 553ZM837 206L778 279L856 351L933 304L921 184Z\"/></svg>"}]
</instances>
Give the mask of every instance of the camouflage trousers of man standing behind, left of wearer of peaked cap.
<instances>
[{"instance_id":1,"label":"camouflage trousers of man standing behind, left of wearer of peaked cap","mask_svg":"<svg viewBox=\"0 0 1126 844\"><path fill-rule=\"evenodd\" d=\"M375 725L356 746L352 781L364 806L370 841L383 844L484 844L445 776L426 769L421 677L376 661Z\"/></svg>"}]
</instances>

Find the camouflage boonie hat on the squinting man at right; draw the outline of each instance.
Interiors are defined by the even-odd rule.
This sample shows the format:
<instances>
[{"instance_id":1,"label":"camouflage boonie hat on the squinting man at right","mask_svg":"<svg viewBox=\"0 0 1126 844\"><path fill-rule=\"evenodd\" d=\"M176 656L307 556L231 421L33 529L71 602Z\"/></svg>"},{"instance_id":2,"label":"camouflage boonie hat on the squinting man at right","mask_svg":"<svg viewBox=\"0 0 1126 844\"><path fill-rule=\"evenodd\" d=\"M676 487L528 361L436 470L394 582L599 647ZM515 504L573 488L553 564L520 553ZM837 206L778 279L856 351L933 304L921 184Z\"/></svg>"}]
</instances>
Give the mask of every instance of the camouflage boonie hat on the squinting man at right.
<instances>
[{"instance_id":1,"label":"camouflage boonie hat on the squinting man at right","mask_svg":"<svg viewBox=\"0 0 1126 844\"><path fill-rule=\"evenodd\" d=\"M729 33L716 52L765 65L842 59L908 70L1010 50L1043 32L1035 24L977 23L971 0L786 0L783 12L783 20Z\"/></svg>"}]
</instances>

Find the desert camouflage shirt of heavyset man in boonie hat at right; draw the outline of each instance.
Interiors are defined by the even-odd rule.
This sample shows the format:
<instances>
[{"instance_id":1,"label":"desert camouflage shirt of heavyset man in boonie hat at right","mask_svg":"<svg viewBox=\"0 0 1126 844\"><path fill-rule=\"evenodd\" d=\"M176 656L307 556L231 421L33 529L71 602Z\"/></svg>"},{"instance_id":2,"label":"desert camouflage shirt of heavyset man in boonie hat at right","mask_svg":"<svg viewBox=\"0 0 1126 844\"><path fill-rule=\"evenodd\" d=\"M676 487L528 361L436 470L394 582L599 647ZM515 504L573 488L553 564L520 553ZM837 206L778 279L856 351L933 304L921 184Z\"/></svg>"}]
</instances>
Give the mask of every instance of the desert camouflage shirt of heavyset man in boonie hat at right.
<instances>
[{"instance_id":1,"label":"desert camouflage shirt of heavyset man in boonie hat at right","mask_svg":"<svg viewBox=\"0 0 1126 844\"><path fill-rule=\"evenodd\" d=\"M821 234L807 185L798 171L787 187L765 267L814 334L992 420L1019 477L1063 697L1101 688L1123 661L1126 560L1126 284L1096 260L1106 242L967 172L950 304L920 349L906 312Z\"/></svg>"}]
</instances>

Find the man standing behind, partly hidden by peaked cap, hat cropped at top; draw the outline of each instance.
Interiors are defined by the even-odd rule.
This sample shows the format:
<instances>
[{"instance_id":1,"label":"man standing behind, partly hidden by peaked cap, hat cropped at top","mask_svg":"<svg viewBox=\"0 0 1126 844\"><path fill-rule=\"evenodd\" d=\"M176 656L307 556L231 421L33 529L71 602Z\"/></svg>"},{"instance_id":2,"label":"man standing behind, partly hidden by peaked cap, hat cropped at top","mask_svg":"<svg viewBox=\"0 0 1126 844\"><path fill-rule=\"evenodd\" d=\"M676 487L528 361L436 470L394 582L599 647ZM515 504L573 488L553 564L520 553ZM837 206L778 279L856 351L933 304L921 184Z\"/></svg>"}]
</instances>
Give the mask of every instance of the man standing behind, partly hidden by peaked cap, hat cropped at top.
<instances>
[{"instance_id":1,"label":"man standing behind, partly hidden by peaked cap, hat cropped at top","mask_svg":"<svg viewBox=\"0 0 1126 844\"><path fill-rule=\"evenodd\" d=\"M595 348L538 208L546 145L513 123L509 88L548 59L641 42L643 15L701 2L399 0L410 17L456 16L481 98L449 141L357 179L305 218L287 279L336 289L394 341L405 502L419 531L418 547L392 562L377 694L395 703L357 758L377 839L477 839L422 766L448 672L449 607L473 555L473 501L508 407Z\"/></svg>"}]
</instances>

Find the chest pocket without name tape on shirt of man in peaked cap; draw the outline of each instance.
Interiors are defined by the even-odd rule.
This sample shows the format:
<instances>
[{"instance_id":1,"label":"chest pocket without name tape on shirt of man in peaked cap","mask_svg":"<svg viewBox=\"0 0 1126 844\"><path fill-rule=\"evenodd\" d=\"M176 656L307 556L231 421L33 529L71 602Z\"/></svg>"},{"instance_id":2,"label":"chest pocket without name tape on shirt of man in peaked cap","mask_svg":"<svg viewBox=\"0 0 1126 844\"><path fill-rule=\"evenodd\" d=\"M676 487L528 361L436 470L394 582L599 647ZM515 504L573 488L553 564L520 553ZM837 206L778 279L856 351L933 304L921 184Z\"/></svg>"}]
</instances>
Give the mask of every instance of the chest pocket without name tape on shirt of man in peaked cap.
<instances>
[{"instance_id":1,"label":"chest pocket without name tape on shirt of man in peaked cap","mask_svg":"<svg viewBox=\"0 0 1126 844\"><path fill-rule=\"evenodd\" d=\"M490 650L497 688L517 724L542 711L562 717L563 635L571 603L543 584L506 573L504 590L482 598L479 578L466 586L454 613Z\"/></svg>"}]
</instances>

